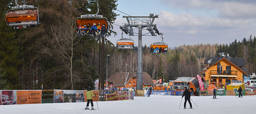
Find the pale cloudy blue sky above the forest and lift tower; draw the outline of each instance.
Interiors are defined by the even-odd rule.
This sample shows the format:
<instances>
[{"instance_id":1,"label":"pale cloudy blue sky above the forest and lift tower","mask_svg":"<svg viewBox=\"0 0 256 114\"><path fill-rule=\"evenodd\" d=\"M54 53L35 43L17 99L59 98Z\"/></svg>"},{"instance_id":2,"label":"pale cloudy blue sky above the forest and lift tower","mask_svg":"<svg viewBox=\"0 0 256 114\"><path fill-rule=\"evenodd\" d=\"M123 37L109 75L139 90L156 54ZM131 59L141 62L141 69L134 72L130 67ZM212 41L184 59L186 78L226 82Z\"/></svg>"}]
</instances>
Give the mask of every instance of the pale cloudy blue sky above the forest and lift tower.
<instances>
[{"instance_id":1,"label":"pale cloudy blue sky above the forest and lift tower","mask_svg":"<svg viewBox=\"0 0 256 114\"><path fill-rule=\"evenodd\" d=\"M256 0L118 0L117 9L131 16L159 15L154 24L163 32L168 47L193 44L229 44L256 36ZM127 23L120 16L115 24ZM114 25L117 35L108 40L116 44L122 31ZM147 31L142 31L142 34ZM123 35L124 38L130 38ZM138 46L138 36L131 36ZM162 41L160 36L142 36L142 45Z\"/></svg>"}]
</instances>

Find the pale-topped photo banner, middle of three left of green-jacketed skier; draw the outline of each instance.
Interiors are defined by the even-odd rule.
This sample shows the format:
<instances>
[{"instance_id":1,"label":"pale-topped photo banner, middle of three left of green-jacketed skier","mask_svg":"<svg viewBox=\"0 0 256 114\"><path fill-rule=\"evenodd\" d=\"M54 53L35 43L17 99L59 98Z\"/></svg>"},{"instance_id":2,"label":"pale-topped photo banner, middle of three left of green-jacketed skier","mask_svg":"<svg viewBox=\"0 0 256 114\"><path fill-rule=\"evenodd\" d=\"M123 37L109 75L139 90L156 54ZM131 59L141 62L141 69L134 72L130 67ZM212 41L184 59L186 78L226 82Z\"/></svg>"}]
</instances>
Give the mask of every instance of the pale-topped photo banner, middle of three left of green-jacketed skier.
<instances>
[{"instance_id":1,"label":"pale-topped photo banner, middle of three left of green-jacketed skier","mask_svg":"<svg viewBox=\"0 0 256 114\"><path fill-rule=\"evenodd\" d=\"M63 90L64 103L76 102L76 91L75 90Z\"/></svg>"}]
</instances>

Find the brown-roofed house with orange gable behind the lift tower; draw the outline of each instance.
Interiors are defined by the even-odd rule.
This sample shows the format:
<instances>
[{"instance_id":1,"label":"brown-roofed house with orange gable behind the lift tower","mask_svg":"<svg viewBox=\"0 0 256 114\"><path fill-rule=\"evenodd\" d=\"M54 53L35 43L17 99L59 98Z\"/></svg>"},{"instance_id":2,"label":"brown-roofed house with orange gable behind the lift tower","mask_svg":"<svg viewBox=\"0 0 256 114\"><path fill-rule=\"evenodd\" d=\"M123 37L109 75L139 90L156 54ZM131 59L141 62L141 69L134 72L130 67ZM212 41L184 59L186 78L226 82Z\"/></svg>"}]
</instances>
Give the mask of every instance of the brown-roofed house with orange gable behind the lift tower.
<instances>
[{"instance_id":1,"label":"brown-roofed house with orange gable behind the lift tower","mask_svg":"<svg viewBox=\"0 0 256 114\"><path fill-rule=\"evenodd\" d=\"M146 72L143 72L143 87L154 86L154 82L151 79L151 76ZM127 78L125 78L127 77ZM136 72L125 72L115 73L107 79L107 82L110 86L113 87L136 87L137 86L137 73ZM105 80L106 83L106 80Z\"/></svg>"}]
</instances>

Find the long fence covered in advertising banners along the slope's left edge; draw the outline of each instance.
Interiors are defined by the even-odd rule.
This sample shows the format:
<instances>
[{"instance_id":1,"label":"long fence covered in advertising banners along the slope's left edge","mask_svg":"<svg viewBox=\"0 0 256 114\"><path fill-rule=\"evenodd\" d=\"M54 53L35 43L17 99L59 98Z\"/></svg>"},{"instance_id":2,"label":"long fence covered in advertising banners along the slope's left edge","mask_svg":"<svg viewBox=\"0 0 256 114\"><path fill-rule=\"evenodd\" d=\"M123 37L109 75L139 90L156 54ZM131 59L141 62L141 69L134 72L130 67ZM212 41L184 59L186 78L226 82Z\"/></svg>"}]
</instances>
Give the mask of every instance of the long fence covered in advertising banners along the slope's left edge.
<instances>
[{"instance_id":1,"label":"long fence covered in advertising banners along the slope's left edge","mask_svg":"<svg viewBox=\"0 0 256 114\"><path fill-rule=\"evenodd\" d=\"M87 90L0 90L0 105L87 102L86 92ZM100 100L101 92L107 93L106 90L92 90L92 92L96 95L93 101ZM118 100L133 100L132 92L114 93L118 95ZM107 95L102 96L103 100Z\"/></svg>"}]
</instances>

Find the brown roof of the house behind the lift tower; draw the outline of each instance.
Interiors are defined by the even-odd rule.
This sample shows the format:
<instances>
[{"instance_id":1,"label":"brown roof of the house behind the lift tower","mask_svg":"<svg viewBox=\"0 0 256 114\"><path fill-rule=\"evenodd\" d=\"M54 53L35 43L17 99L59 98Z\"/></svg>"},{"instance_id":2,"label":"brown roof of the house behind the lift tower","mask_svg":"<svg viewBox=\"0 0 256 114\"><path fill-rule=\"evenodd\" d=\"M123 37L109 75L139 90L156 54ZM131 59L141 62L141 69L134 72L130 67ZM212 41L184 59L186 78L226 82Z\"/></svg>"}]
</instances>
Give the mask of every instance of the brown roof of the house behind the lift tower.
<instances>
[{"instance_id":1,"label":"brown roof of the house behind the lift tower","mask_svg":"<svg viewBox=\"0 0 256 114\"><path fill-rule=\"evenodd\" d=\"M137 72L127 72L127 80L126 83L130 81L131 78L137 78ZM143 84L145 85L154 85L149 74L143 72L142 74ZM106 80L105 80L106 81ZM125 72L123 73L115 73L109 78L107 78L107 82L114 83L115 86L125 86Z\"/></svg>"}]
</instances>

